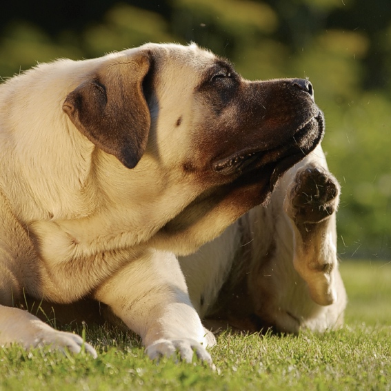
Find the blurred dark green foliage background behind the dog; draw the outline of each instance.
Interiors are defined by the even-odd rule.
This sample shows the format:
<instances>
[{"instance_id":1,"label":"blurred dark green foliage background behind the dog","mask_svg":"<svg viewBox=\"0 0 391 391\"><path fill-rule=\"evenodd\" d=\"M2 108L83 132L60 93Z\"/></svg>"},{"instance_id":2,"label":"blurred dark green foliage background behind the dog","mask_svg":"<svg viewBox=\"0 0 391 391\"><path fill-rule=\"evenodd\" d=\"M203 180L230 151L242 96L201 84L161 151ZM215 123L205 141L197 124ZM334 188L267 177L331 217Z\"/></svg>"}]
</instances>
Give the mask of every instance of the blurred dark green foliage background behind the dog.
<instances>
[{"instance_id":1,"label":"blurred dark green foliage background behind the dog","mask_svg":"<svg viewBox=\"0 0 391 391\"><path fill-rule=\"evenodd\" d=\"M339 254L391 259L390 0L8 0L0 76L148 41L195 41L249 79L308 77L342 186Z\"/></svg>"}]
</instances>

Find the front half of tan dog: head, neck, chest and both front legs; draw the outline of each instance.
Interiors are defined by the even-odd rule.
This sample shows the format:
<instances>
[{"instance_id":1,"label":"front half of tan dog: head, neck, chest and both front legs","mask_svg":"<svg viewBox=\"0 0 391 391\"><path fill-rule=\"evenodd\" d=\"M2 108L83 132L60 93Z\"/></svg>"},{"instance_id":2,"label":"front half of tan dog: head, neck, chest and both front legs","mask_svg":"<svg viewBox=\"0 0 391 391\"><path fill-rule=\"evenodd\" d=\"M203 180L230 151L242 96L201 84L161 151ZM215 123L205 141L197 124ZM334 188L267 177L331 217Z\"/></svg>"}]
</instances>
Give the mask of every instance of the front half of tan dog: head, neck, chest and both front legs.
<instances>
[{"instance_id":1,"label":"front half of tan dog: head, neck, chest and both front legs","mask_svg":"<svg viewBox=\"0 0 391 391\"><path fill-rule=\"evenodd\" d=\"M246 81L194 45L60 60L3 83L0 344L78 352L79 337L11 307L89 297L151 358L194 349L210 362L177 255L268 201L322 136L308 81Z\"/></svg>"}]
</instances>

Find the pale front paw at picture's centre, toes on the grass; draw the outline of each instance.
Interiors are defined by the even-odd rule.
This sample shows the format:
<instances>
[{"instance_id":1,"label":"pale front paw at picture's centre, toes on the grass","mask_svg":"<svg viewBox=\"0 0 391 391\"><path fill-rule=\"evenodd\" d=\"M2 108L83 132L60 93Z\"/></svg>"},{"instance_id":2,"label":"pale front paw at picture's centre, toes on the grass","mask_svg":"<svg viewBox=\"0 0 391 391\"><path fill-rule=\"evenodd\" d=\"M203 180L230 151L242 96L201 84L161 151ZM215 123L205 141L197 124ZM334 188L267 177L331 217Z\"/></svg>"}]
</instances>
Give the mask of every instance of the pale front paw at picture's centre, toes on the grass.
<instances>
[{"instance_id":1,"label":"pale front paw at picture's centre, toes on the grass","mask_svg":"<svg viewBox=\"0 0 391 391\"><path fill-rule=\"evenodd\" d=\"M151 345L147 346L146 353L150 359L159 359L160 357L172 357L178 353L183 361L191 363L193 355L209 365L212 365L212 357L201 345L194 339L158 339Z\"/></svg>"}]
</instances>

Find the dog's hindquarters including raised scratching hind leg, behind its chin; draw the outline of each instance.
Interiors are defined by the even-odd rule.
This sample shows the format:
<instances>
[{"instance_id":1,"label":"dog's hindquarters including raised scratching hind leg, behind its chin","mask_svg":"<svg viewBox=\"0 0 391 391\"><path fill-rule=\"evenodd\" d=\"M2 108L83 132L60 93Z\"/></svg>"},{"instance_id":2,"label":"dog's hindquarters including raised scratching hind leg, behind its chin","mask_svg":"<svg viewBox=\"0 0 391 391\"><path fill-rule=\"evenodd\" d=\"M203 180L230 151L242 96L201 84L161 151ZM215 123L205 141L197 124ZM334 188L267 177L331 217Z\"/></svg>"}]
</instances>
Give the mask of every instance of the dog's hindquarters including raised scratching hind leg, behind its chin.
<instances>
[{"instance_id":1,"label":"dog's hindquarters including raised scratching hind leg, behind its chin","mask_svg":"<svg viewBox=\"0 0 391 391\"><path fill-rule=\"evenodd\" d=\"M341 327L339 183L319 145L279 181L267 206L180 257L190 299L212 330L324 332Z\"/></svg>"}]
</instances>

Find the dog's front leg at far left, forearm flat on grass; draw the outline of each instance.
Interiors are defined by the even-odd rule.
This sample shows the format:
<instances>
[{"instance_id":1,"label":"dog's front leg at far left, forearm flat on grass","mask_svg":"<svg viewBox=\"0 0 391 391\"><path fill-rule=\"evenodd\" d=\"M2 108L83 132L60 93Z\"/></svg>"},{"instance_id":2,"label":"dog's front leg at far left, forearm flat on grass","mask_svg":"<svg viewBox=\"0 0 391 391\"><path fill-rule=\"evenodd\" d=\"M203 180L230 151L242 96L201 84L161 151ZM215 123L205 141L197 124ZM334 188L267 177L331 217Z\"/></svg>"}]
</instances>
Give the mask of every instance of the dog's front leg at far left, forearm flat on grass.
<instances>
[{"instance_id":1,"label":"dog's front leg at far left, forearm flat on grass","mask_svg":"<svg viewBox=\"0 0 391 391\"><path fill-rule=\"evenodd\" d=\"M40 275L37 255L32 242L19 221L14 217L5 197L0 193L0 346L19 344L23 348L51 345L52 348L97 357L97 352L76 334L54 330L33 314L12 308L23 302L23 290L39 286Z\"/></svg>"}]
</instances>

